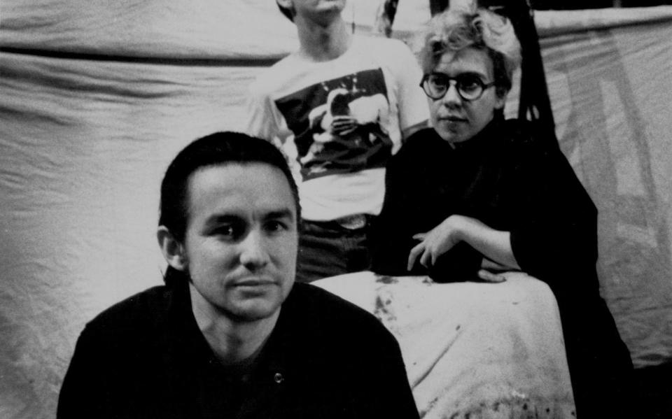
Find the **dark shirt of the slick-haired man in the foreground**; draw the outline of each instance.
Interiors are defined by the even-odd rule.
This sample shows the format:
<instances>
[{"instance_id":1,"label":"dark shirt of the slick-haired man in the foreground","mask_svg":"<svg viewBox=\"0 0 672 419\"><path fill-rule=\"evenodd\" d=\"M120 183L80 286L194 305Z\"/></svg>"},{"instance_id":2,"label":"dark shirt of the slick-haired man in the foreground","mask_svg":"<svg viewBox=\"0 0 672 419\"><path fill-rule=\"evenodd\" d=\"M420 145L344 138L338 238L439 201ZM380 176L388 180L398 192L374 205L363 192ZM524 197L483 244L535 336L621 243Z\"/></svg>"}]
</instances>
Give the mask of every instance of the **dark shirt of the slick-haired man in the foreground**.
<instances>
[{"instance_id":1,"label":"dark shirt of the slick-haired man in the foreground","mask_svg":"<svg viewBox=\"0 0 672 419\"><path fill-rule=\"evenodd\" d=\"M57 418L417 418L398 343L373 315L297 283L248 365L224 367L186 283L153 287L88 323Z\"/></svg>"}]
</instances>

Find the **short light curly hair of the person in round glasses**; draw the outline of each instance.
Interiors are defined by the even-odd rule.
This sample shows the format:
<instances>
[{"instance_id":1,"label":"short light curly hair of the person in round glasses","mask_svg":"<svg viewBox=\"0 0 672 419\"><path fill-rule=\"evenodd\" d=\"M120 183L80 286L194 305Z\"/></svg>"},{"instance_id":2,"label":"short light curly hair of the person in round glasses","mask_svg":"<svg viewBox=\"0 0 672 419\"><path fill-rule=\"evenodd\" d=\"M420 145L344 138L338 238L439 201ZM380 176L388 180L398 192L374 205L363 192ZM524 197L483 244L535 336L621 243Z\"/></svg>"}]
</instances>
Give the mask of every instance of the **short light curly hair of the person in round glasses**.
<instances>
[{"instance_id":1,"label":"short light curly hair of the person in round glasses","mask_svg":"<svg viewBox=\"0 0 672 419\"><path fill-rule=\"evenodd\" d=\"M464 48L488 53L497 94L505 96L521 62L520 43L510 20L485 8L449 8L428 22L416 42L423 73L433 71L444 52Z\"/></svg>"}]
</instances>

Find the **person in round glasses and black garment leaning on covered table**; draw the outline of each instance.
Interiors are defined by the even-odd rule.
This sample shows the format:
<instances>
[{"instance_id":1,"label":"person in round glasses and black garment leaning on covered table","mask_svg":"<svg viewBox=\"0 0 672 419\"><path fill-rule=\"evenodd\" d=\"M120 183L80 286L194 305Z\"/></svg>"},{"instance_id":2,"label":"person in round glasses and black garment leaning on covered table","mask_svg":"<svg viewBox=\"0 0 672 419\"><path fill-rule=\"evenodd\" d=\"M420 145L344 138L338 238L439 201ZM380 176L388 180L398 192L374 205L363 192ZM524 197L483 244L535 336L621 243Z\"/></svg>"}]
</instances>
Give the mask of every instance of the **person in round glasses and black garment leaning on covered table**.
<instances>
[{"instance_id":1,"label":"person in round glasses and black garment leaning on covered table","mask_svg":"<svg viewBox=\"0 0 672 419\"><path fill-rule=\"evenodd\" d=\"M388 162L372 271L499 282L521 270L545 281L578 417L620 417L613 401L629 397L632 363L599 294L596 206L553 141L504 118L521 61L512 24L486 9L447 10L429 22L419 60L431 128Z\"/></svg>"}]
</instances>

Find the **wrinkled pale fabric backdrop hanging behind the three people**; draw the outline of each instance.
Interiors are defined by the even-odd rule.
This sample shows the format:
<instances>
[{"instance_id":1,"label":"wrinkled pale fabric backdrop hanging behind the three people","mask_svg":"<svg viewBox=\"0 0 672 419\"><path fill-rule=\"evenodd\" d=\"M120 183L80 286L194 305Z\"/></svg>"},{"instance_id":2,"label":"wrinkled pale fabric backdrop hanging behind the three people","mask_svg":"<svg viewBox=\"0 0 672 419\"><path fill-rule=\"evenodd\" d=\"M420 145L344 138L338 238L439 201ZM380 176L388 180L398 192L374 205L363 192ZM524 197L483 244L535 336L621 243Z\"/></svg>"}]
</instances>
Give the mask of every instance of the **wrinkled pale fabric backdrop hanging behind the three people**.
<instances>
[{"instance_id":1,"label":"wrinkled pale fabric backdrop hanging behind the three people","mask_svg":"<svg viewBox=\"0 0 672 419\"><path fill-rule=\"evenodd\" d=\"M351 0L357 31L376 2ZM400 1L416 30L426 1ZM161 282L158 186L294 48L270 0L0 3L0 417L50 418L78 332ZM600 215L603 294L638 367L672 358L672 8L538 12L561 148ZM515 113L515 99L509 108Z\"/></svg>"}]
</instances>

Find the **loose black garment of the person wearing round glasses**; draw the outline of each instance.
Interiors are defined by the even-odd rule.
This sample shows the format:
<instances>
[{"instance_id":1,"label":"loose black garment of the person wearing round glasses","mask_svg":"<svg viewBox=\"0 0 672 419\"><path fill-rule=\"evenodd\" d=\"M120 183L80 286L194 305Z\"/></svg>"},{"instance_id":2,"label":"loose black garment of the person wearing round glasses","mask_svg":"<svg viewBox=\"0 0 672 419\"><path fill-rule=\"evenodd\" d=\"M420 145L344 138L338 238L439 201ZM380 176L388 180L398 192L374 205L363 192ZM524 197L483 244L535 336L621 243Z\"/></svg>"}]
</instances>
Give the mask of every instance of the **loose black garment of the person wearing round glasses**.
<instances>
[{"instance_id":1,"label":"loose black garment of the person wearing round glasses","mask_svg":"<svg viewBox=\"0 0 672 419\"><path fill-rule=\"evenodd\" d=\"M431 269L406 269L418 243L412 236L453 214L511 233L521 269L548 283L558 301L579 418L614 417L604 409L618 395L629 397L632 364L599 294L596 207L557 144L500 118L456 148L434 129L412 135L387 167L372 270L440 282L475 278L483 256L464 242Z\"/></svg>"}]
</instances>

